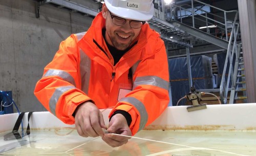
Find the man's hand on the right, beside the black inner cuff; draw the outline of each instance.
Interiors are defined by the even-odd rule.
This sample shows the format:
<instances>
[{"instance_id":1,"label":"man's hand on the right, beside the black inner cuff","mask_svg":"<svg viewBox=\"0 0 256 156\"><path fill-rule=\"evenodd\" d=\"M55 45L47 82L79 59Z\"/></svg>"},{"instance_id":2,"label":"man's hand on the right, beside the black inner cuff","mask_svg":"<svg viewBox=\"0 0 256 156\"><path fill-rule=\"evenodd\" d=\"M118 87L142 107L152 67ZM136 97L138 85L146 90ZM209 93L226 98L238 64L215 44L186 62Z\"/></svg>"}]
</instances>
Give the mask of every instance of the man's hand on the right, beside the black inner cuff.
<instances>
[{"instance_id":1,"label":"man's hand on the right, beside the black inner cuff","mask_svg":"<svg viewBox=\"0 0 256 156\"><path fill-rule=\"evenodd\" d=\"M121 114L116 114L111 118L109 123L108 132L117 133L124 136L132 136L132 132L127 125L125 117ZM129 137L116 136L111 133L106 133L102 140L109 144L111 147L118 147L128 142Z\"/></svg>"}]
</instances>

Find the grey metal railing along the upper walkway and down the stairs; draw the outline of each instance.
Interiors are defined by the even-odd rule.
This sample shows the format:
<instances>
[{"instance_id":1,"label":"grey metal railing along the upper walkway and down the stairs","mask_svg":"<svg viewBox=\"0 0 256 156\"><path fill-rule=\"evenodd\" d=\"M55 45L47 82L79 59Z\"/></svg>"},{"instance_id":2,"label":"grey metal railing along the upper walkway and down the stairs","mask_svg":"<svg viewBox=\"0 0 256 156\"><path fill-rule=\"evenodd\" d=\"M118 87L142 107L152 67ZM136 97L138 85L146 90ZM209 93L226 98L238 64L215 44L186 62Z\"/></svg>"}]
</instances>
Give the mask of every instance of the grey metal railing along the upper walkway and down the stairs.
<instances>
[{"instance_id":1,"label":"grey metal railing along the upper walkway and down the stairs","mask_svg":"<svg viewBox=\"0 0 256 156\"><path fill-rule=\"evenodd\" d=\"M203 5L208 6L211 9L218 10L219 14L222 13L223 16L216 15L210 12L207 12L201 8L194 8L196 5ZM169 16L167 16L167 12L165 12L166 20L172 21L180 21L180 23L183 23L183 18L192 18L192 27L195 28L195 19L204 21L206 24L206 33L209 33L208 26L214 25L220 30L225 31L225 40L228 41L228 48L227 48L227 54L226 54L226 60L224 64L223 74L220 82L220 97L223 104L227 103L227 96L228 91L230 91L229 85L231 81L231 89L236 87L236 81L237 81L237 68L238 68L238 59L239 59L239 52L237 48L237 36L238 36L238 30L239 30L239 24L237 23L237 17L238 17L238 11L232 10L232 11L225 11L220 8L205 4L203 2L197 1L197 0L191 0L191 4L185 4L182 6L178 6L176 4L170 4L169 6ZM190 10L191 9L191 10ZM177 11L180 11L180 16L177 15ZM181 11L184 10L186 12L189 12L190 15L183 15L181 16ZM200 10L201 13L197 13L197 11ZM167 11L167 9L165 9ZM234 19L230 20L227 18L228 13L234 13ZM218 18L220 20L216 20L215 18ZM230 23L231 21L231 23ZM230 27L231 25L231 27ZM198 29L198 28L197 28ZM231 29L231 30L230 30ZM230 34L230 36L229 36ZM223 39L223 38L222 38ZM235 62L233 63L233 60ZM229 63L229 65L228 65ZM234 64L234 65L233 65ZM228 74L226 75L226 72Z\"/></svg>"}]
</instances>

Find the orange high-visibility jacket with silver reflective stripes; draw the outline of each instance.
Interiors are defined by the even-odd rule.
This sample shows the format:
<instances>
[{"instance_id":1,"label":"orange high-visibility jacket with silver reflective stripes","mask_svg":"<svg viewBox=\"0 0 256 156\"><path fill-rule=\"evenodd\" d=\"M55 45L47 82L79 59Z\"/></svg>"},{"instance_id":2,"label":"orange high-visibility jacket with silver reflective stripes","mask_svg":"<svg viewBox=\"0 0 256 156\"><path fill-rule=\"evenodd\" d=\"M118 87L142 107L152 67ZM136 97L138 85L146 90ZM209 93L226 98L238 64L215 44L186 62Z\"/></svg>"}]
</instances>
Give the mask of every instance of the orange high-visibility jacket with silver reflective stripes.
<instances>
[{"instance_id":1,"label":"orange high-visibility jacket with silver reflective stripes","mask_svg":"<svg viewBox=\"0 0 256 156\"><path fill-rule=\"evenodd\" d=\"M49 112L74 124L76 107L92 100L100 109L114 107L130 113L132 134L152 123L167 107L169 73L160 35L146 23L137 44L114 66L102 37L100 12L87 32L62 41L53 60L36 83L34 94ZM131 75L131 76L129 76Z\"/></svg>"}]
</instances>

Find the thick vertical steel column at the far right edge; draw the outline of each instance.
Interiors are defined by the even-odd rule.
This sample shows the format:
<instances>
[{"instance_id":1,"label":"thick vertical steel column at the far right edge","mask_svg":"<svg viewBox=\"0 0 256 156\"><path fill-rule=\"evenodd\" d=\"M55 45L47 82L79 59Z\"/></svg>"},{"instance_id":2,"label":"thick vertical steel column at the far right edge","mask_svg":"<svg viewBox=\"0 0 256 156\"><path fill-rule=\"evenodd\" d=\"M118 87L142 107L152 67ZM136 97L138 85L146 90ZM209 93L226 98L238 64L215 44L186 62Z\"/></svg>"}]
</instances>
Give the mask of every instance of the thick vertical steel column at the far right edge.
<instances>
[{"instance_id":1,"label":"thick vertical steel column at the far right edge","mask_svg":"<svg viewBox=\"0 0 256 156\"><path fill-rule=\"evenodd\" d=\"M238 9L243 45L247 100L249 103L254 103L256 102L256 2L255 0L238 0Z\"/></svg>"}]
</instances>

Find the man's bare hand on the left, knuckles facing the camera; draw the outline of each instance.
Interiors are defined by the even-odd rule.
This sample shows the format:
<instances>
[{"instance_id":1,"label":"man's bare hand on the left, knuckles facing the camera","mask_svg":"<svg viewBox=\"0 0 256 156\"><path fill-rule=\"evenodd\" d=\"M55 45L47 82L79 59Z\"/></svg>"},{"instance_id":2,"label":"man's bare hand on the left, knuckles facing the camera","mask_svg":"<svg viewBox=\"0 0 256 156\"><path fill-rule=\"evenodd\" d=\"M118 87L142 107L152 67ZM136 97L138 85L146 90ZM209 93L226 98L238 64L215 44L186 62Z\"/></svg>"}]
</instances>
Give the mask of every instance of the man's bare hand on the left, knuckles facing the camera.
<instances>
[{"instance_id":1,"label":"man's bare hand on the left, knuckles facing the camera","mask_svg":"<svg viewBox=\"0 0 256 156\"><path fill-rule=\"evenodd\" d=\"M103 137L102 128L107 128L102 113L97 106L87 101L76 108L75 125L82 137Z\"/></svg>"}]
</instances>

